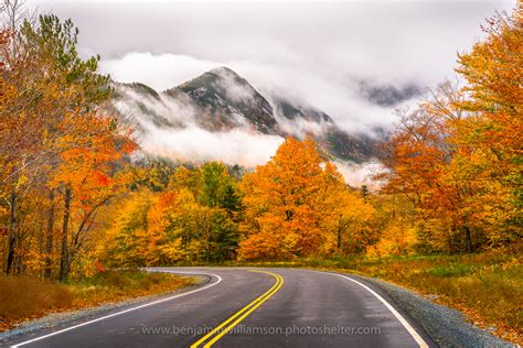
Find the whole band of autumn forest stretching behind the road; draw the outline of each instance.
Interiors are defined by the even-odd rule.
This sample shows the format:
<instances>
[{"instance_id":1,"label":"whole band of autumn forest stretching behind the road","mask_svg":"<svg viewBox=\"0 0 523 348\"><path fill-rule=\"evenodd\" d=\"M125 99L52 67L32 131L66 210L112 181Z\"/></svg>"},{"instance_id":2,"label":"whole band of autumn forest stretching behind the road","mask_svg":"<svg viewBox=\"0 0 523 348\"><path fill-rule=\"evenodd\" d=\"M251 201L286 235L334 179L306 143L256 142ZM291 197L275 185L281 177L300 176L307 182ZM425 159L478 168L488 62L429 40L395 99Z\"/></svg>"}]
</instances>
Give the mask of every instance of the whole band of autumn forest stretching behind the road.
<instances>
[{"instance_id":1,"label":"whole band of autumn forest stretching behind the road","mask_svg":"<svg viewBox=\"0 0 523 348\"><path fill-rule=\"evenodd\" d=\"M12 10L9 13L9 10ZM456 80L398 111L374 185L351 187L311 139L255 168L139 152L99 56L53 14L0 33L0 252L53 282L111 268L482 254L521 246L521 17L497 14ZM521 259L520 259L521 260ZM520 262L520 261L517 261Z\"/></svg>"}]
</instances>

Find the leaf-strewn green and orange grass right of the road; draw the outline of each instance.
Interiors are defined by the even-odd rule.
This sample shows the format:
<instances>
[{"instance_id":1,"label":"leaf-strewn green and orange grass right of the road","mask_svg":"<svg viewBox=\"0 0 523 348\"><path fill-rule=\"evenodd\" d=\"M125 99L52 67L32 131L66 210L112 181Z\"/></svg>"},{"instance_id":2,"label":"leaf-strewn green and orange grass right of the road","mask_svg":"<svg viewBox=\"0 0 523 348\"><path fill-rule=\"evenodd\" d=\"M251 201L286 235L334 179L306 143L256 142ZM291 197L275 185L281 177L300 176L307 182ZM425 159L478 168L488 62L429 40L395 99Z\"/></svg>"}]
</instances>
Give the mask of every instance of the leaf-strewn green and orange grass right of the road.
<instances>
[{"instance_id":1,"label":"leaf-strewn green and orange grass right of the road","mask_svg":"<svg viewBox=\"0 0 523 348\"><path fill-rule=\"evenodd\" d=\"M462 255L339 255L243 265L313 268L382 279L459 309L471 323L523 345L523 258L519 247Z\"/></svg>"}]
</instances>

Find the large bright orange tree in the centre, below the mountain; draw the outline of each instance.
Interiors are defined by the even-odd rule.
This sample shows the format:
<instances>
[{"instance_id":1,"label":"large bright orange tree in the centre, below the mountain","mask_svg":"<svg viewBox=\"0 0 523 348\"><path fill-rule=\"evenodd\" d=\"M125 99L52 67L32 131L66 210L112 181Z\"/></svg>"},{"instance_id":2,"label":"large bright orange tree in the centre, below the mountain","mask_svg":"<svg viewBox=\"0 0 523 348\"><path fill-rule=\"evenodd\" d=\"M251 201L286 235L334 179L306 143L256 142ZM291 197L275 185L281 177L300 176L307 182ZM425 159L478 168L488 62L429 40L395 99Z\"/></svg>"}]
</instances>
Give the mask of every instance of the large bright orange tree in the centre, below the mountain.
<instances>
[{"instance_id":1,"label":"large bright orange tree in the centre, below the mountain","mask_svg":"<svg viewBox=\"0 0 523 348\"><path fill-rule=\"evenodd\" d=\"M313 140L286 139L267 164L243 180L246 238L239 257L275 259L318 252L324 202L340 181Z\"/></svg>"}]
</instances>

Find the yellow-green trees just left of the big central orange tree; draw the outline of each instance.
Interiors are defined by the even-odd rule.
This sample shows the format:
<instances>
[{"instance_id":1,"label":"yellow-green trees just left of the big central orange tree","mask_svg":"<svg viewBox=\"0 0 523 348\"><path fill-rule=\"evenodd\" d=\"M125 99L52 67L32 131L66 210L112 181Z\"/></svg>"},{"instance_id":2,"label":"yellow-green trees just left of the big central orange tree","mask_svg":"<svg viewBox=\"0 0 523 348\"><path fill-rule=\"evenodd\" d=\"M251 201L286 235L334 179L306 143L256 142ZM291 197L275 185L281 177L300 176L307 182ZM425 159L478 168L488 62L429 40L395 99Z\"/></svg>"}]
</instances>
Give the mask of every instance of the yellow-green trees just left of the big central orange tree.
<instances>
[{"instance_id":1,"label":"yellow-green trees just left of the big central orange tree","mask_svg":"<svg viewBox=\"0 0 523 348\"><path fill-rule=\"evenodd\" d=\"M234 259L242 204L227 167L217 162L194 168L152 167L166 171L140 172L135 178L136 192L109 227L100 258L124 265ZM158 182L159 173L167 172L161 191L159 185L150 185ZM147 204L140 206L140 197Z\"/></svg>"}]
</instances>

